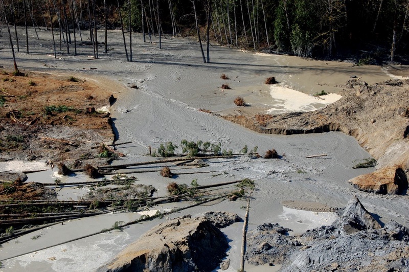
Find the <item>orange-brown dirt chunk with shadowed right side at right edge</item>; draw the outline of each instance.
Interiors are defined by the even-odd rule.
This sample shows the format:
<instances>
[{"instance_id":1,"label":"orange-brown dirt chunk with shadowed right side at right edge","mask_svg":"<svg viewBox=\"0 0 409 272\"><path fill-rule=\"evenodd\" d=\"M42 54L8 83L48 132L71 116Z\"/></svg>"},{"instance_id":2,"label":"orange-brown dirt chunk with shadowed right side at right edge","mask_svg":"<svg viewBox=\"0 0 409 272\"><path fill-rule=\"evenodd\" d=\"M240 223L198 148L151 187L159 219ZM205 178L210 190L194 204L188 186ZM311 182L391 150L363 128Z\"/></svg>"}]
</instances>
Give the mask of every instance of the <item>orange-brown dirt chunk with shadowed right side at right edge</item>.
<instances>
[{"instance_id":1,"label":"orange-brown dirt chunk with shadowed right side at right edge","mask_svg":"<svg viewBox=\"0 0 409 272\"><path fill-rule=\"evenodd\" d=\"M377 194L399 194L407 188L406 175L397 166L383 167L375 172L354 177L349 183L360 191Z\"/></svg>"}]
</instances>

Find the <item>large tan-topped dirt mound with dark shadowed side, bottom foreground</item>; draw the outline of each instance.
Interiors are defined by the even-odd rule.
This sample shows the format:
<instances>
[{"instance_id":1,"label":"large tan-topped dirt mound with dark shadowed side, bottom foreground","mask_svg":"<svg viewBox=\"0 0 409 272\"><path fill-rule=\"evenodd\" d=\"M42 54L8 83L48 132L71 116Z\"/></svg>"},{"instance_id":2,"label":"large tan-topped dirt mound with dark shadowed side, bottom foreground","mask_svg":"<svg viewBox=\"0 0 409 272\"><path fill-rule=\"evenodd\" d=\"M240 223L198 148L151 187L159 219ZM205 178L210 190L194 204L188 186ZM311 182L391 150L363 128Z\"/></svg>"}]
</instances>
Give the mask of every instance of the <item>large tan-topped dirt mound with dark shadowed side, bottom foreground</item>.
<instances>
[{"instance_id":1,"label":"large tan-topped dirt mound with dark shadowed side, bottom foreground","mask_svg":"<svg viewBox=\"0 0 409 272\"><path fill-rule=\"evenodd\" d=\"M206 217L175 218L149 230L97 271L211 271L228 246Z\"/></svg>"}]
</instances>

